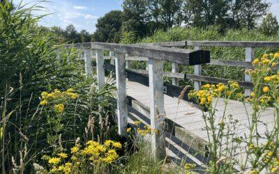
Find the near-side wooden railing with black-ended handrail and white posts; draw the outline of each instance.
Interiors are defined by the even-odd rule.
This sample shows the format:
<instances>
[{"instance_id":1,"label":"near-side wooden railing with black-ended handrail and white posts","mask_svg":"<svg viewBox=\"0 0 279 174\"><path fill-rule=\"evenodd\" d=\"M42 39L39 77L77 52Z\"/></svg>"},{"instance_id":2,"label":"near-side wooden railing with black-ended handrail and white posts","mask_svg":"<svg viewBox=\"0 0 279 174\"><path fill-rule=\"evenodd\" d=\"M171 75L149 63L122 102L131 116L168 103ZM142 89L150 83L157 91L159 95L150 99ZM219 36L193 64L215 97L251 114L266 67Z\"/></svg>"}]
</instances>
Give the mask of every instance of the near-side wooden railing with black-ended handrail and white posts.
<instances>
[{"instance_id":1,"label":"near-side wooden railing with black-ended handrail and white posts","mask_svg":"<svg viewBox=\"0 0 279 174\"><path fill-rule=\"evenodd\" d=\"M210 53L205 50L180 49L175 47L158 47L153 45L121 45L114 43L91 42L66 47L84 49L84 65L86 74L93 74L91 58L93 53L96 58L96 72L98 88L105 84L104 51L110 52L115 61L116 74L116 100L117 120L119 134L126 136L127 132L127 98L126 98L126 61L144 58L148 62L149 90L150 90L150 120L151 129L156 133L151 134L151 148L156 157L165 157L165 109L163 85L163 61L183 65L199 65L210 62ZM130 59L129 59L130 58Z\"/></svg>"}]
</instances>

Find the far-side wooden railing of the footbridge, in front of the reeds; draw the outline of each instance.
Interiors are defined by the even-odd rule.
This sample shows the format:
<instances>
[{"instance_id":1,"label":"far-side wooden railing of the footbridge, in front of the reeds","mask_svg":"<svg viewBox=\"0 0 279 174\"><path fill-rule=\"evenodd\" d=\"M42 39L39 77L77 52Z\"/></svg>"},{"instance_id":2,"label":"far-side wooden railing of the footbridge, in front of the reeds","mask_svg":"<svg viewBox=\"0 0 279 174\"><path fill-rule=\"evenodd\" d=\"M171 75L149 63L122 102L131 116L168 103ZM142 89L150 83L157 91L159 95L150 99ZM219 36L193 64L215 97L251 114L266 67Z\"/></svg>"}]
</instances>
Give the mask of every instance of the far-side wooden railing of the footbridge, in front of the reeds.
<instances>
[{"instance_id":1,"label":"far-side wooden railing of the footbridge, in front of the reeds","mask_svg":"<svg viewBox=\"0 0 279 174\"><path fill-rule=\"evenodd\" d=\"M186 47L193 46L195 50L202 49L202 47L245 47L246 48L246 56L245 61L229 61L229 60L220 60L220 59L212 59L210 61L210 65L225 65L232 66L237 68L252 68L252 61L255 58L255 48L258 47L278 47L279 42L262 42L262 41L179 41L179 42L158 42L158 43L143 43L136 45L146 45L152 47ZM128 56L126 57L127 61L147 61L147 58L137 57L137 56ZM130 65L131 63L128 63ZM130 67L127 67L130 68ZM275 70L279 70L279 65L277 65ZM147 71L144 70L135 70L135 72L140 72L142 74L147 74ZM147 66L146 66L147 70ZM195 90L199 90L201 87L201 82L209 82L209 83L223 83L227 84L227 81L231 79L223 79L218 77L208 77L202 75L202 66L195 65L194 74L183 74L178 72L178 64L172 63L172 72L164 72L165 77L172 77L172 84L178 86L178 79L191 79L194 81ZM250 89L252 88L252 83L250 76L248 74L244 74L244 79L242 81L238 81L239 85L245 88L245 94L250 95Z\"/></svg>"}]
</instances>

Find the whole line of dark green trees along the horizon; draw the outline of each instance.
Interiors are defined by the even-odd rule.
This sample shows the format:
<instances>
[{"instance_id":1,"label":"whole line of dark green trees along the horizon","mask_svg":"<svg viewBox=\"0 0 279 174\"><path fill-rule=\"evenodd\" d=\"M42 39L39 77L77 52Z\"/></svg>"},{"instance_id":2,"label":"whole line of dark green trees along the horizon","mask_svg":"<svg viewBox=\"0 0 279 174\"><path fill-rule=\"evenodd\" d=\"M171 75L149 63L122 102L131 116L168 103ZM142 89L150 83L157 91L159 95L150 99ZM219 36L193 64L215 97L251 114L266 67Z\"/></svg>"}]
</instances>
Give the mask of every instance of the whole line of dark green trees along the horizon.
<instances>
[{"instance_id":1,"label":"whole line of dark green trees along the horizon","mask_svg":"<svg viewBox=\"0 0 279 174\"><path fill-rule=\"evenodd\" d=\"M270 6L266 0L123 0L123 10L112 10L100 17L92 35L85 30L77 32L72 24L66 30L57 26L51 30L73 42L120 42L126 33L144 38L175 26L216 25L220 33L246 28L274 35L279 25L276 17L267 13Z\"/></svg>"}]
</instances>

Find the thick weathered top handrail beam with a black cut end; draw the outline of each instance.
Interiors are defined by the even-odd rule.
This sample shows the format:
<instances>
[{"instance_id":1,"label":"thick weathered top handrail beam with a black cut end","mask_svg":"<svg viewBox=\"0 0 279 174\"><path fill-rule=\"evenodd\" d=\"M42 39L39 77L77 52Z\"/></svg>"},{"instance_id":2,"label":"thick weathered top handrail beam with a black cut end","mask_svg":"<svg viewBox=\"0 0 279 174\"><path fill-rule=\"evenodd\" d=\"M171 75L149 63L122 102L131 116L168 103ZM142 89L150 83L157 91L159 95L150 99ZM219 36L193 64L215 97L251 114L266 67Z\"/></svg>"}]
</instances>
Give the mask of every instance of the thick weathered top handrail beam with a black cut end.
<instances>
[{"instance_id":1,"label":"thick weathered top handrail beam with a black cut end","mask_svg":"<svg viewBox=\"0 0 279 174\"><path fill-rule=\"evenodd\" d=\"M169 47L145 47L112 43L93 42L92 49L105 49L134 56L153 58L159 61L171 61L184 65L198 65L210 62L210 52L206 50L192 51Z\"/></svg>"}]
</instances>

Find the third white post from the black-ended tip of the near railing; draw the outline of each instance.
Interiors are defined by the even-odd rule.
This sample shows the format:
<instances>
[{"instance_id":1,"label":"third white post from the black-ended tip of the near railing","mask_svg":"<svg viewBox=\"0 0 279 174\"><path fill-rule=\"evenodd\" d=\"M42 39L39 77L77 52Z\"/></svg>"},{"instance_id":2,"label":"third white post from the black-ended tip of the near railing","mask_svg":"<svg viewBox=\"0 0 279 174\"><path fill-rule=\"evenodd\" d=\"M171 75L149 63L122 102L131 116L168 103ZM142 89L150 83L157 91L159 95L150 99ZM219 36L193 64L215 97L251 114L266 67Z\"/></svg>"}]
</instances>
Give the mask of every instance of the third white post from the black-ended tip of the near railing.
<instances>
[{"instance_id":1,"label":"third white post from the black-ended tip of the near railing","mask_svg":"<svg viewBox=\"0 0 279 174\"><path fill-rule=\"evenodd\" d=\"M101 49L96 49L96 67L98 89L100 90L105 84L104 52Z\"/></svg>"}]
</instances>

